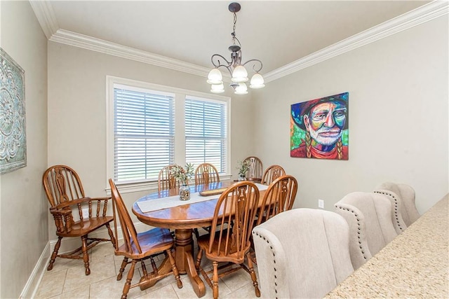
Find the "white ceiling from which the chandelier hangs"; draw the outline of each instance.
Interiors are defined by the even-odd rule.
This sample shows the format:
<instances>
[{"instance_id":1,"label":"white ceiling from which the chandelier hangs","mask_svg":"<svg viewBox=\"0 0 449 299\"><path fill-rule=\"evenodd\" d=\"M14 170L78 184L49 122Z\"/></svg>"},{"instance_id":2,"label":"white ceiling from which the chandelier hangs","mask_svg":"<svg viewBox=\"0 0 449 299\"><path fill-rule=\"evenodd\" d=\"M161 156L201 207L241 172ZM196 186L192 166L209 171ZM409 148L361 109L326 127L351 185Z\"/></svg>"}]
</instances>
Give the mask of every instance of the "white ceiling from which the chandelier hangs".
<instances>
[{"instance_id":1,"label":"white ceiling from which the chandelier hangs","mask_svg":"<svg viewBox=\"0 0 449 299\"><path fill-rule=\"evenodd\" d=\"M230 60L231 1L33 2L34 11L46 5L53 34L62 29L205 68L214 53ZM262 60L266 74L428 2L240 1L242 61Z\"/></svg>"}]
</instances>

